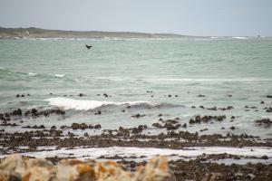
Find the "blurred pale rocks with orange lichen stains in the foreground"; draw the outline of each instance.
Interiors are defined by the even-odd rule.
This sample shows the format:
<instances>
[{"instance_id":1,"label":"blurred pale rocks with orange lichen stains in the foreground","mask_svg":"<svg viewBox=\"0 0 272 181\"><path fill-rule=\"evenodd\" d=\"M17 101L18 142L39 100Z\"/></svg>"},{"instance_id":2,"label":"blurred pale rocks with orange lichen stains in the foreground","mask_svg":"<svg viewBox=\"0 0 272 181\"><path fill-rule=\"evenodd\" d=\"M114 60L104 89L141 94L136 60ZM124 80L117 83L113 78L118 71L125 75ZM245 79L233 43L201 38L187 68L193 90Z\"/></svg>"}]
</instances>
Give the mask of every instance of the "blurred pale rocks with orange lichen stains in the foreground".
<instances>
[{"instance_id":1,"label":"blurred pale rocks with orange lichen stains in the foreground","mask_svg":"<svg viewBox=\"0 0 272 181\"><path fill-rule=\"evenodd\" d=\"M170 181L167 157L154 157L136 172L125 171L125 168L113 161L96 162L63 159L53 166L45 159L34 159L11 155L0 164L0 180L116 180L116 181Z\"/></svg>"}]
</instances>

